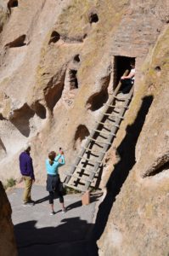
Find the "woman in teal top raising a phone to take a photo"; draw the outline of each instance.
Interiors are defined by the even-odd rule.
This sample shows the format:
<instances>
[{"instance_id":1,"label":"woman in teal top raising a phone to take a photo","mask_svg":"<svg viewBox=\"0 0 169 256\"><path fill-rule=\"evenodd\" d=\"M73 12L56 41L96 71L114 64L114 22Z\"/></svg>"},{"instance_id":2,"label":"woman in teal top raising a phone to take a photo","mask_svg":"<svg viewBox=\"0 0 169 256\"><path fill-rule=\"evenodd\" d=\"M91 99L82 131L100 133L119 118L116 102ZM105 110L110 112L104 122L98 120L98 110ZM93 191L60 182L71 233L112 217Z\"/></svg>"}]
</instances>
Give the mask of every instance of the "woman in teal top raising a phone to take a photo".
<instances>
[{"instance_id":1,"label":"woman in teal top raising a phone to take a photo","mask_svg":"<svg viewBox=\"0 0 169 256\"><path fill-rule=\"evenodd\" d=\"M61 150L60 154L56 156L54 151L48 154L48 159L46 160L46 170L47 170L47 191L49 192L49 204L51 206L51 215L54 215L54 192L59 195L59 202L62 207L62 212L65 212L64 196L60 191L60 179L58 167L65 165L64 152Z\"/></svg>"}]
</instances>

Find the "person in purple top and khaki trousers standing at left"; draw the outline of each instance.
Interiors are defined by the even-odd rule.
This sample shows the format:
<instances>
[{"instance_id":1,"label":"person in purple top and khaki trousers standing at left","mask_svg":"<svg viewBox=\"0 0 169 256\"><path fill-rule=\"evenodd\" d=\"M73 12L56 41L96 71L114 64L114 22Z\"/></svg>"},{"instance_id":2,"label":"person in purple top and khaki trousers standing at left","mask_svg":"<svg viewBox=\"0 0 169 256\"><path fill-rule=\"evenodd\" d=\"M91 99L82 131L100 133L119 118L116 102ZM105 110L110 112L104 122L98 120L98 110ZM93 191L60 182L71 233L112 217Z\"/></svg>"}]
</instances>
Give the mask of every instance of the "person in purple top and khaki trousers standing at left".
<instances>
[{"instance_id":1,"label":"person in purple top and khaki trousers standing at left","mask_svg":"<svg viewBox=\"0 0 169 256\"><path fill-rule=\"evenodd\" d=\"M31 187L35 182L34 170L32 159L30 156L31 145L25 146L25 151L20 154L20 173L25 181L25 190L23 194L23 201L25 205L33 205L34 201L31 200Z\"/></svg>"}]
</instances>

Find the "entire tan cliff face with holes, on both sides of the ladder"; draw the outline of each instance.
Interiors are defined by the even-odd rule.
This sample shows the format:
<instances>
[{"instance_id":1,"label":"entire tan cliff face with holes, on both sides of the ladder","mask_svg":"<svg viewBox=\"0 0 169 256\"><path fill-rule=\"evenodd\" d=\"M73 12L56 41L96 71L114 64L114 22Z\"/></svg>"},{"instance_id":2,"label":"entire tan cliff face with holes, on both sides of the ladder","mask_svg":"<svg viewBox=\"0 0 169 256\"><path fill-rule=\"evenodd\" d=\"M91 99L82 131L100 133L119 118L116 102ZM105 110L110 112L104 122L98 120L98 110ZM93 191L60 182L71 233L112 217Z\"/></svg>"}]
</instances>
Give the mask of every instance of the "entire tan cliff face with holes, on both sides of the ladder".
<instances>
[{"instance_id":1,"label":"entire tan cliff face with holes, on both sides of the ladder","mask_svg":"<svg viewBox=\"0 0 169 256\"><path fill-rule=\"evenodd\" d=\"M119 159L111 160L115 149L110 148L104 166L102 186L110 177L112 210L99 240L100 255L166 255L169 250L168 13L168 1L155 0L3 1L4 182L20 176L18 156L27 141L37 183L46 179L49 151L62 147L66 162L73 163L113 90L116 61L136 59L134 96L114 144Z\"/></svg>"}]
</instances>

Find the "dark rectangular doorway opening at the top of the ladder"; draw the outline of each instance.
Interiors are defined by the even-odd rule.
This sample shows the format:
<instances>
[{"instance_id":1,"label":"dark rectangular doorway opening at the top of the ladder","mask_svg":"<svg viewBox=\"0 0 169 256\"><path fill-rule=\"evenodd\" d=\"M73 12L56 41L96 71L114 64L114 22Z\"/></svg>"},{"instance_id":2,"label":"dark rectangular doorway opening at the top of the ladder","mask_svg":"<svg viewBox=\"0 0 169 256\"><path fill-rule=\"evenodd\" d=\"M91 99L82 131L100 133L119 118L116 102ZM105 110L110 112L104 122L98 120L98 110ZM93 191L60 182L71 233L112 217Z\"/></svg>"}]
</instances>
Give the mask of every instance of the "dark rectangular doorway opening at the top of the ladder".
<instances>
[{"instance_id":1,"label":"dark rectangular doorway opening at the top of the ladder","mask_svg":"<svg viewBox=\"0 0 169 256\"><path fill-rule=\"evenodd\" d=\"M115 87L117 84L119 84L119 81L121 79L121 76L127 72L130 73L131 67L130 64L135 63L135 58L126 57L126 56L115 56L114 58L114 83L113 83L113 89L115 90Z\"/></svg>"}]
</instances>

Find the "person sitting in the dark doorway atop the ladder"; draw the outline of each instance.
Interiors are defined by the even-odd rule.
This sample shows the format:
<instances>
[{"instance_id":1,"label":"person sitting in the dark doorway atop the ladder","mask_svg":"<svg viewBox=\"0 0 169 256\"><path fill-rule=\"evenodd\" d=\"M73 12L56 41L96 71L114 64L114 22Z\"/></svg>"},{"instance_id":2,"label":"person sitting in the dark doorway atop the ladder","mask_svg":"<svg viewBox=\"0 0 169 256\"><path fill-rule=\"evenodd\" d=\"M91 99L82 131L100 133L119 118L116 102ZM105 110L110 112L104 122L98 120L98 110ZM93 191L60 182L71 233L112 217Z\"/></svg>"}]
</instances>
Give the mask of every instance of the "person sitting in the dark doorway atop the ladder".
<instances>
[{"instance_id":1,"label":"person sitting in the dark doorway atop the ladder","mask_svg":"<svg viewBox=\"0 0 169 256\"><path fill-rule=\"evenodd\" d=\"M127 76L122 76L121 77L121 90L123 93L127 93L132 85L134 84L134 79L135 79L135 62L131 61L130 63L131 66L131 71Z\"/></svg>"}]
</instances>

